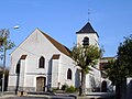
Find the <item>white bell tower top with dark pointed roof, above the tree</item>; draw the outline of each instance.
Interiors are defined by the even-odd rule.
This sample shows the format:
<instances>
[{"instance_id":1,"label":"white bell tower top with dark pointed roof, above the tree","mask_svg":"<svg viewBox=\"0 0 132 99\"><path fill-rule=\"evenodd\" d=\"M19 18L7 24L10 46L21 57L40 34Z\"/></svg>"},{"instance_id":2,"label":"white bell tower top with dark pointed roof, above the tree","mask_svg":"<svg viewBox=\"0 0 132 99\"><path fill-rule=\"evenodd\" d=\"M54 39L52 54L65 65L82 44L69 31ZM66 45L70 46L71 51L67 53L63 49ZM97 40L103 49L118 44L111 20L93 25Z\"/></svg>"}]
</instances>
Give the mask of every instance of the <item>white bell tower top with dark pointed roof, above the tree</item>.
<instances>
[{"instance_id":1,"label":"white bell tower top with dark pointed roof, above the tree","mask_svg":"<svg viewBox=\"0 0 132 99\"><path fill-rule=\"evenodd\" d=\"M90 22L88 22L81 30L76 32L77 34L77 44L80 45L97 45L99 35L91 26Z\"/></svg>"}]
</instances>

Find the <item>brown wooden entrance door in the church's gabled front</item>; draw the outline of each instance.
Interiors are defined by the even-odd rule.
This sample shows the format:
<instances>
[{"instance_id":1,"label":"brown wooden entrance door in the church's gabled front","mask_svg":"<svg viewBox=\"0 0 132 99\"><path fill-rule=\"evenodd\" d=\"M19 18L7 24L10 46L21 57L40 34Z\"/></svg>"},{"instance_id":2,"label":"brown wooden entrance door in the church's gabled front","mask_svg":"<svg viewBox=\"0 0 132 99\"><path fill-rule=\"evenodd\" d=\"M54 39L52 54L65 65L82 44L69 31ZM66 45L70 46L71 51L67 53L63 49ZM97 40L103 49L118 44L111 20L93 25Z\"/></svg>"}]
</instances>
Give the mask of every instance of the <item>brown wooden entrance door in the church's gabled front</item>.
<instances>
[{"instance_id":1,"label":"brown wooden entrance door in the church's gabled front","mask_svg":"<svg viewBox=\"0 0 132 99\"><path fill-rule=\"evenodd\" d=\"M46 77L36 77L36 91L45 91Z\"/></svg>"}]
</instances>

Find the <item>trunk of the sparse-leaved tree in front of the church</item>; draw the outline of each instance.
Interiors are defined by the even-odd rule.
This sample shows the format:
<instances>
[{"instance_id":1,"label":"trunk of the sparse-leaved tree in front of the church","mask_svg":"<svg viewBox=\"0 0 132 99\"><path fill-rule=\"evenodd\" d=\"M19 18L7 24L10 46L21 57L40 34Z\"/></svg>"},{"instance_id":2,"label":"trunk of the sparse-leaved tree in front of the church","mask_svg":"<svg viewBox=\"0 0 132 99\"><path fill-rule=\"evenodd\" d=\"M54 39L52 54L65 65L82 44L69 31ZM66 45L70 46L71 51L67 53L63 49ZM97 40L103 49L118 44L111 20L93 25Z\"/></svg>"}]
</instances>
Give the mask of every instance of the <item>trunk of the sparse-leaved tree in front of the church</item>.
<instances>
[{"instance_id":1,"label":"trunk of the sparse-leaved tree in front of the church","mask_svg":"<svg viewBox=\"0 0 132 99\"><path fill-rule=\"evenodd\" d=\"M81 72L81 85L79 90L79 96L86 96L86 74Z\"/></svg>"}]
</instances>

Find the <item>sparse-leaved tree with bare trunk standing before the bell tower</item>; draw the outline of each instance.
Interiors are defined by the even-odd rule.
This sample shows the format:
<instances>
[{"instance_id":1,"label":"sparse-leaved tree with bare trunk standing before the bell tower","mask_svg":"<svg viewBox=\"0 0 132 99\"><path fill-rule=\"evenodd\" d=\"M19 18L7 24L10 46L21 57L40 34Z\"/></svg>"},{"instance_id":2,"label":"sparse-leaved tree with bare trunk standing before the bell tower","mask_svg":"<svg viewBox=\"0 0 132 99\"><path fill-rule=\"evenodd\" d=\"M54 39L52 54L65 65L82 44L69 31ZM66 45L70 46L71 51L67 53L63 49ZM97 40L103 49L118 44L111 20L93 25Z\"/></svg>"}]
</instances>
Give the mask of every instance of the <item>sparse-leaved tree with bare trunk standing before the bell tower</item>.
<instances>
[{"instance_id":1,"label":"sparse-leaved tree with bare trunk standing before the bell tower","mask_svg":"<svg viewBox=\"0 0 132 99\"><path fill-rule=\"evenodd\" d=\"M72 48L70 56L75 61L75 65L80 67L81 86L79 95L85 96L86 74L90 70L89 66L97 64L99 57L101 56L101 50L95 45L75 45Z\"/></svg>"}]
</instances>

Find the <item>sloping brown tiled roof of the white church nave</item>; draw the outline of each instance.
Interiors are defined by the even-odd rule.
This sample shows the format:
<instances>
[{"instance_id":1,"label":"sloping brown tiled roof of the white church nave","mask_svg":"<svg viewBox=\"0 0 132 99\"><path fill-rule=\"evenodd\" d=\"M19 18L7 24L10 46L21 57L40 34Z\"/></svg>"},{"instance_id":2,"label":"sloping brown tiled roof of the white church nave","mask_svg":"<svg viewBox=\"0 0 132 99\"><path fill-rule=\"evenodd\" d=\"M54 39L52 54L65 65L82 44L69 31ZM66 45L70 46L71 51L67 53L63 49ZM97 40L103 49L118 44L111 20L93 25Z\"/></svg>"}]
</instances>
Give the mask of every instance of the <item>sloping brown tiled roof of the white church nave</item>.
<instances>
[{"instance_id":1,"label":"sloping brown tiled roof of the white church nave","mask_svg":"<svg viewBox=\"0 0 132 99\"><path fill-rule=\"evenodd\" d=\"M50 35L47 35L46 33L44 33L44 32L42 32L41 31L41 33L43 33L43 35L58 50L58 51L61 51L62 53L64 53L65 55L67 55L67 56L69 56L70 55L70 51L66 47L66 46L64 46L64 45L62 45L61 43L58 43L57 41L55 41L53 37L51 37Z\"/></svg>"}]
</instances>

